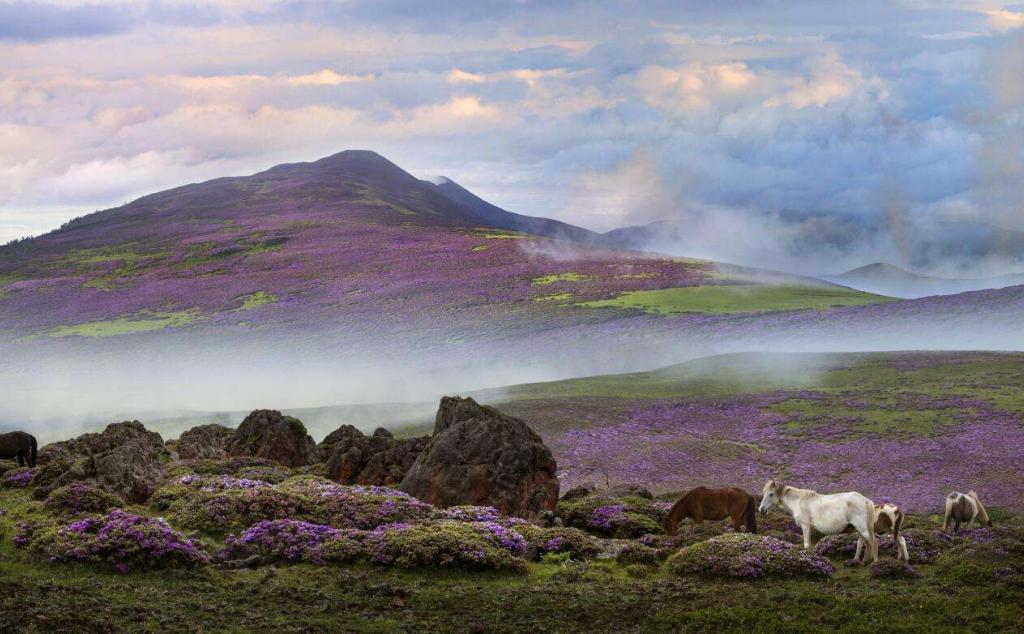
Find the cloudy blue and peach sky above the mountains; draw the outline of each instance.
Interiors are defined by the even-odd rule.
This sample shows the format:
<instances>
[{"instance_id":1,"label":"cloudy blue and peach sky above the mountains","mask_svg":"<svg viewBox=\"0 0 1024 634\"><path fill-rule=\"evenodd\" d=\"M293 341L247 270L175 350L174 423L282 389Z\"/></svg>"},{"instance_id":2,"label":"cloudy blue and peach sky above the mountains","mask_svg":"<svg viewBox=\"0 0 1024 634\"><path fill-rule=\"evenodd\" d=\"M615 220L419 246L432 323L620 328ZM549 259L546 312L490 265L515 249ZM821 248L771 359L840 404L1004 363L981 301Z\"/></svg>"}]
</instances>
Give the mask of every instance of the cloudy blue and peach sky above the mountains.
<instances>
[{"instance_id":1,"label":"cloudy blue and peach sky above the mountains","mask_svg":"<svg viewBox=\"0 0 1024 634\"><path fill-rule=\"evenodd\" d=\"M1024 231L1024 4L0 0L0 243L346 149L680 254L1024 270L950 247Z\"/></svg>"}]
</instances>

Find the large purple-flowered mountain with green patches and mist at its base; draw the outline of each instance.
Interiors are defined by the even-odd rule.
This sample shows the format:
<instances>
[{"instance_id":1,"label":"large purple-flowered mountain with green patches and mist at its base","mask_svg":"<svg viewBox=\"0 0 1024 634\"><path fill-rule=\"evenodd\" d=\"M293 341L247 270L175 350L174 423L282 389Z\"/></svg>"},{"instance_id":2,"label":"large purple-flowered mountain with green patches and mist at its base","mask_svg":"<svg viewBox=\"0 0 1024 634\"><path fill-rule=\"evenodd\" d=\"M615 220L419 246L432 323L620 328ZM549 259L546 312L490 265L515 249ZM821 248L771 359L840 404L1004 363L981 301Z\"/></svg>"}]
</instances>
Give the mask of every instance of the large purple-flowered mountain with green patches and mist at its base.
<instances>
[{"instance_id":1,"label":"large purple-flowered mountain with green patches and mist at its base","mask_svg":"<svg viewBox=\"0 0 1024 634\"><path fill-rule=\"evenodd\" d=\"M893 301L610 248L445 184L343 152L0 247L0 427L435 400L722 351L1021 336L1024 287Z\"/></svg>"}]
</instances>

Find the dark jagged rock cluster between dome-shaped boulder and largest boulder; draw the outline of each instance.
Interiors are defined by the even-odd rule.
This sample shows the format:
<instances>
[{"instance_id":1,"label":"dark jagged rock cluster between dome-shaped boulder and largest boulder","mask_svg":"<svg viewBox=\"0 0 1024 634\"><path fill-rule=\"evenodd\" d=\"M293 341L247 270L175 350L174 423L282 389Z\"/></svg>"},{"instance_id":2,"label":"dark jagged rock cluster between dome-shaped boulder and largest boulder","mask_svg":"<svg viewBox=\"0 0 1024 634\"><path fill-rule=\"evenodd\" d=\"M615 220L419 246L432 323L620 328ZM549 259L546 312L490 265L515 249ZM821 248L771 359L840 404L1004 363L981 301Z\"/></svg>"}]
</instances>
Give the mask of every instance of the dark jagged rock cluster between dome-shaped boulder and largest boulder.
<instances>
[{"instance_id":1,"label":"dark jagged rock cluster between dome-shaped boulder and largest boulder","mask_svg":"<svg viewBox=\"0 0 1024 634\"><path fill-rule=\"evenodd\" d=\"M395 438L378 428L364 435L351 425L332 431L321 443L328 477L343 484L395 485L427 446L427 436Z\"/></svg>"}]
</instances>

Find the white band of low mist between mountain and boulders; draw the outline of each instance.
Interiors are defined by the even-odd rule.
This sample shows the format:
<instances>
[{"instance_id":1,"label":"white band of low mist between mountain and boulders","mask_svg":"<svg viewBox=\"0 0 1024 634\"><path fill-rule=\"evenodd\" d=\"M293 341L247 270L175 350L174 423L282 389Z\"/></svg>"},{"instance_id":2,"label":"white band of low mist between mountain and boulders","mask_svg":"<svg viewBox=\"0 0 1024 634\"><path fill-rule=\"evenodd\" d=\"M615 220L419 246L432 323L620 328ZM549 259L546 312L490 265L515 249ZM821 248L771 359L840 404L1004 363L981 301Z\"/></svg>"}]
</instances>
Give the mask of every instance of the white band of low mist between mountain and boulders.
<instances>
[{"instance_id":1,"label":"white band of low mist between mountain and boulders","mask_svg":"<svg viewBox=\"0 0 1024 634\"><path fill-rule=\"evenodd\" d=\"M173 437L194 424L237 425L251 410L278 409L306 421L318 439L341 424L367 431L426 424L446 393L487 389L497 403L505 386L647 371L722 353L1021 350L1022 310L1024 292L985 291L824 312L634 316L517 339L484 333L431 347L397 340L355 347L315 338L227 345L188 341L185 333L175 345L144 338L121 345L30 342L5 350L0 427L51 441L138 419ZM827 363L772 358L752 366L751 376L813 381L812 370Z\"/></svg>"}]
</instances>

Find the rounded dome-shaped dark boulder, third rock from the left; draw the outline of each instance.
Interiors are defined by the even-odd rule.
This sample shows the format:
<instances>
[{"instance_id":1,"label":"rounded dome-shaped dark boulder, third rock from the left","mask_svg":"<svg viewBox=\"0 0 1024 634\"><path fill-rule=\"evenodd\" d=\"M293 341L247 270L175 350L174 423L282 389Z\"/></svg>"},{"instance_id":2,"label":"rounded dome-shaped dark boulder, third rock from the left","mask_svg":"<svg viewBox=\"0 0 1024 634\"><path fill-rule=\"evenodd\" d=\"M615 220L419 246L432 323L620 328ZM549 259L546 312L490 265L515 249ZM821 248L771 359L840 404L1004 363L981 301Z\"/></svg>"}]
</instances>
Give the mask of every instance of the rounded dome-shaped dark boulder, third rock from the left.
<instances>
[{"instance_id":1,"label":"rounded dome-shaped dark boulder, third rock from the left","mask_svg":"<svg viewBox=\"0 0 1024 634\"><path fill-rule=\"evenodd\" d=\"M228 456L267 458L288 467L319 462L319 450L297 418L276 410L255 410L227 442Z\"/></svg>"}]
</instances>

